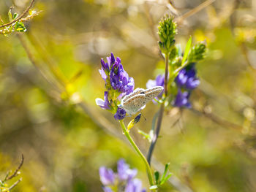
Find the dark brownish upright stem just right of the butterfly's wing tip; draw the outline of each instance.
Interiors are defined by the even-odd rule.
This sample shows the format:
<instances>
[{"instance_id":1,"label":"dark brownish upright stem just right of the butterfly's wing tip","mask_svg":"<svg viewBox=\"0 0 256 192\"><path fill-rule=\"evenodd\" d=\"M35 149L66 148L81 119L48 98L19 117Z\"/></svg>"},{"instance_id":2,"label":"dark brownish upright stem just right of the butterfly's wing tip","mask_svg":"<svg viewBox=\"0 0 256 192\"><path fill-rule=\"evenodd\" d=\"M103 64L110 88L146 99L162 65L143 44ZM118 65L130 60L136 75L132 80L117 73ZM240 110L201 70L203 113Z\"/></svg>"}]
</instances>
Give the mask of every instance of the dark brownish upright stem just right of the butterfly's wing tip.
<instances>
[{"instance_id":1,"label":"dark brownish upright stem just right of the butterfly's wing tip","mask_svg":"<svg viewBox=\"0 0 256 192\"><path fill-rule=\"evenodd\" d=\"M168 82L168 64L169 64L169 53L165 54L165 84L164 84L164 88L165 88L165 96L167 96L167 82ZM157 138L159 136L159 132L160 132L160 128L161 128L161 124L162 124L162 116L164 114L165 111L165 102L162 102L160 110L159 110L159 116L157 118L157 128L156 131L154 133L154 136L152 138L149 150L148 150L148 156L147 156L147 160L148 160L148 164L151 163L151 157L153 154L153 150L154 150L154 146L157 143Z\"/></svg>"}]
</instances>

